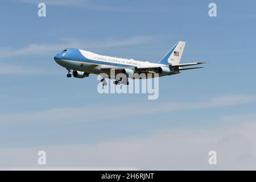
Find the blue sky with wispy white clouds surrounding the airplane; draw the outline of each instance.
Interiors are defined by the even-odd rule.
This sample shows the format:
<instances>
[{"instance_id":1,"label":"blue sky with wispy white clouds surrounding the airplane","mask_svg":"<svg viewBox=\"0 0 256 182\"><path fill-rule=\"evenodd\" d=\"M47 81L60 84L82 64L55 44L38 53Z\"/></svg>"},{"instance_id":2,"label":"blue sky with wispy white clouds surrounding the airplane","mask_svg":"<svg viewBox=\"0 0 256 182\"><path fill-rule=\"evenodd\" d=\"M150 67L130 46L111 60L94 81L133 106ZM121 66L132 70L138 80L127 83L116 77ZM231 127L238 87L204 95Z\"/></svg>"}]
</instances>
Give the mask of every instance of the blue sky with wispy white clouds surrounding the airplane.
<instances>
[{"instance_id":1,"label":"blue sky with wispy white clouds surrounding the airplane","mask_svg":"<svg viewBox=\"0 0 256 182\"><path fill-rule=\"evenodd\" d=\"M255 5L2 1L0 169L255 170ZM100 94L96 75L67 78L53 60L80 48L158 63L179 40L181 63L208 64L161 77L157 100Z\"/></svg>"}]
</instances>

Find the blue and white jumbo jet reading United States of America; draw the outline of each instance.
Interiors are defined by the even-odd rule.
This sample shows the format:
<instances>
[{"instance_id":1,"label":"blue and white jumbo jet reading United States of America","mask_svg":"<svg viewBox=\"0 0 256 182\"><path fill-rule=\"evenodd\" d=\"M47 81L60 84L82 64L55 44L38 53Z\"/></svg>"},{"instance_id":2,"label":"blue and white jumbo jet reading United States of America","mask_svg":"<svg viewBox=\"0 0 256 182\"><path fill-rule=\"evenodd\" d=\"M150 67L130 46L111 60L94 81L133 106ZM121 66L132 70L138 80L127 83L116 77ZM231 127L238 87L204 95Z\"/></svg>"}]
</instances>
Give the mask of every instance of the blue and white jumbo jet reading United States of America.
<instances>
[{"instance_id":1,"label":"blue and white jumbo jet reading United States of America","mask_svg":"<svg viewBox=\"0 0 256 182\"><path fill-rule=\"evenodd\" d=\"M57 64L64 68L67 68L67 77L84 78L88 77L90 73L102 75L101 82L103 85L107 85L105 78L116 79L118 73L126 75L125 80L115 80L114 84L129 84L128 78L133 75L141 75L144 73L147 77L147 73L158 73L158 77L175 75L181 73L181 71L188 69L198 69L203 67L190 67L187 66L203 64L203 62L196 63L183 63L180 64L180 59L185 48L185 42L177 42L174 47L159 61L159 63L150 63L148 61L137 61L134 59L122 59L117 57L102 56L97 53L84 51L81 49L68 48L58 53L54 60ZM71 70L73 74L71 75ZM114 74L110 74L113 73ZM137 74L136 74L137 73ZM154 74L152 74L154 75ZM154 77L154 76L153 76ZM142 77L133 77L142 78Z\"/></svg>"}]
</instances>

